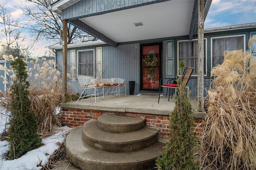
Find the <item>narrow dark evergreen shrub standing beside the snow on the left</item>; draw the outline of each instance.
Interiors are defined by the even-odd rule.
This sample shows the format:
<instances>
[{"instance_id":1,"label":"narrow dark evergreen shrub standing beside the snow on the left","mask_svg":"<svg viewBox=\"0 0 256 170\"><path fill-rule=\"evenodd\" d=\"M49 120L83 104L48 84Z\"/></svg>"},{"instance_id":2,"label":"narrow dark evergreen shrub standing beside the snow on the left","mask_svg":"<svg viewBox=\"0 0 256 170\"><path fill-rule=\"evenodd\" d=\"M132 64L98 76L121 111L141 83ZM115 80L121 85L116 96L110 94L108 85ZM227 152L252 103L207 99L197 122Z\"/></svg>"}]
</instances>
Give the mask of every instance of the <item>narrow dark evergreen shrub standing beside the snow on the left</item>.
<instances>
[{"instance_id":1,"label":"narrow dark evergreen shrub standing beside the snow on the left","mask_svg":"<svg viewBox=\"0 0 256 170\"><path fill-rule=\"evenodd\" d=\"M37 134L36 116L30 109L26 63L17 58L11 66L16 78L10 89L9 156L15 158L40 145L41 139Z\"/></svg>"}]
</instances>

